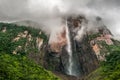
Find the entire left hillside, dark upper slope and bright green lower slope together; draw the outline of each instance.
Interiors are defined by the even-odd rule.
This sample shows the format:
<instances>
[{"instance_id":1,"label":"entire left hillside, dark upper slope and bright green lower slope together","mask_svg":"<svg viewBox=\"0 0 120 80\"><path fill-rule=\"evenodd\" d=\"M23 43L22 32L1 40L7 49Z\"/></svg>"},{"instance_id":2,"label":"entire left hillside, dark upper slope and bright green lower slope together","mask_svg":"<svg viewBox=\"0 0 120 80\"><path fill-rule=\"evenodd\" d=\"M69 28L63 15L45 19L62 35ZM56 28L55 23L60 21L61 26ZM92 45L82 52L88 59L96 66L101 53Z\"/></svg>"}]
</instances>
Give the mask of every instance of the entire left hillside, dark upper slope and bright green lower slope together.
<instances>
[{"instance_id":1,"label":"entire left hillside, dark upper slope and bright green lower slope together","mask_svg":"<svg viewBox=\"0 0 120 80\"><path fill-rule=\"evenodd\" d=\"M43 53L37 39L43 39L43 44L47 41L39 29L0 23L0 80L59 80L28 58Z\"/></svg>"}]
</instances>

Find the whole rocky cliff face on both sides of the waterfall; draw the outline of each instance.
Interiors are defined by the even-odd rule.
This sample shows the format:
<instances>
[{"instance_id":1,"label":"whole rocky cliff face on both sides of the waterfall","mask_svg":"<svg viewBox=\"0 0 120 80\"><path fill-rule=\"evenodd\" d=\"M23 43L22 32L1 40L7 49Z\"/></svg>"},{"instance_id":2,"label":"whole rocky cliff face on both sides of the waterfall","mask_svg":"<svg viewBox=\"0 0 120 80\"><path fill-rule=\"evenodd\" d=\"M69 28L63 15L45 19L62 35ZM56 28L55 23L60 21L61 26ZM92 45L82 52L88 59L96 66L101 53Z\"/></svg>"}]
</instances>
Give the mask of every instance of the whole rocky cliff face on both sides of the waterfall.
<instances>
[{"instance_id":1,"label":"whole rocky cliff face on both sides of the waterfall","mask_svg":"<svg viewBox=\"0 0 120 80\"><path fill-rule=\"evenodd\" d=\"M82 24L87 24L88 20L83 16L69 17L66 22L70 32L69 38L72 47L73 76L83 77L97 69L100 61L105 60L105 56L109 54L109 51L103 44L114 44L111 39L112 34L105 26L97 28L92 33L91 31L86 31L86 27L82 26ZM68 43L66 42L65 30L63 30L63 33L61 33L63 41L61 43L56 42L57 49L54 46L55 44L50 44L50 46L54 47L47 47L47 63L45 66L51 66L51 68L46 68L50 68L52 71L70 75L68 73L70 55L66 49Z\"/></svg>"}]
</instances>

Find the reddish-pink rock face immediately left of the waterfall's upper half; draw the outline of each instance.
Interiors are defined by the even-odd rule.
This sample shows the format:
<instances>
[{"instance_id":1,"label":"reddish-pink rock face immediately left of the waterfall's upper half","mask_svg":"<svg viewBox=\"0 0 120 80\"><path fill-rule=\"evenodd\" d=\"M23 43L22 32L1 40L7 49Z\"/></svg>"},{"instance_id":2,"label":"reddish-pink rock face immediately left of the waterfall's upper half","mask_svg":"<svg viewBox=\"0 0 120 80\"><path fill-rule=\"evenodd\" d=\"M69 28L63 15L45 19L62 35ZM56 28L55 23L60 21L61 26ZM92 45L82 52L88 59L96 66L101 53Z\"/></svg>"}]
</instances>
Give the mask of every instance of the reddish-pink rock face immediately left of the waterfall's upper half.
<instances>
[{"instance_id":1,"label":"reddish-pink rock face immediately left of the waterfall's upper half","mask_svg":"<svg viewBox=\"0 0 120 80\"><path fill-rule=\"evenodd\" d=\"M50 43L50 48L53 52L60 52L62 47L67 44L66 29L63 28L62 32L57 35L57 41Z\"/></svg>"}]
</instances>

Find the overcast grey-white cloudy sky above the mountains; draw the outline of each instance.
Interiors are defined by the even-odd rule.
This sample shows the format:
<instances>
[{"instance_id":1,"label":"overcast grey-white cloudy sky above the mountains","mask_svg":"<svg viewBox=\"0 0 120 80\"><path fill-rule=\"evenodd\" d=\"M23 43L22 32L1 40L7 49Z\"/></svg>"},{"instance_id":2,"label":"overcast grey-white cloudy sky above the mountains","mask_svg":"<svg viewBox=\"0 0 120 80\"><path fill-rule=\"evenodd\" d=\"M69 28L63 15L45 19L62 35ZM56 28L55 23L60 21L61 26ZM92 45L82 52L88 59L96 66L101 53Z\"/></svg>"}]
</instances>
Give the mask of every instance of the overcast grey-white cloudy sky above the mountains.
<instances>
[{"instance_id":1,"label":"overcast grey-white cloudy sky above the mountains","mask_svg":"<svg viewBox=\"0 0 120 80\"><path fill-rule=\"evenodd\" d=\"M83 14L95 25L103 20L115 39L120 39L120 0L0 0L0 21L32 20L44 25L50 34L61 29L63 17Z\"/></svg>"}]
</instances>

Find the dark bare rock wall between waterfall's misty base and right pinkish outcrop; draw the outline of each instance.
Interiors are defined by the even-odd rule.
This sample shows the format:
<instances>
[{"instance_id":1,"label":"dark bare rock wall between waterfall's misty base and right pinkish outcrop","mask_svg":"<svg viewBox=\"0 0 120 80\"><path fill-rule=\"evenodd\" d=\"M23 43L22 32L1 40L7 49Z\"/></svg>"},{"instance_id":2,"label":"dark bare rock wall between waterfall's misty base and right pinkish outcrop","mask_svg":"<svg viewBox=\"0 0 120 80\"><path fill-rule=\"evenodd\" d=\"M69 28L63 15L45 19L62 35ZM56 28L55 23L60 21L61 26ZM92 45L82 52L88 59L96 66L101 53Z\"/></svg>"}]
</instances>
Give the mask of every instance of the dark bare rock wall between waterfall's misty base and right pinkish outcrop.
<instances>
[{"instance_id":1,"label":"dark bare rock wall between waterfall's misty base and right pinkish outcrop","mask_svg":"<svg viewBox=\"0 0 120 80\"><path fill-rule=\"evenodd\" d=\"M76 43L76 51L79 56L82 76L89 74L99 66L97 57L89 43L88 36L84 37L80 43Z\"/></svg>"}]
</instances>

